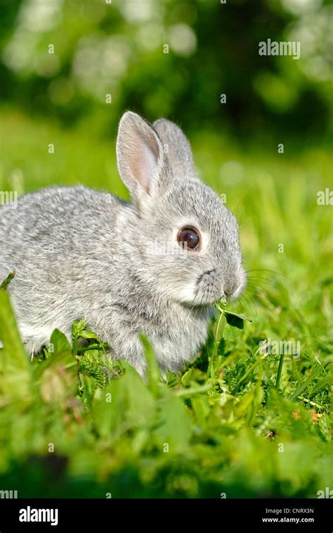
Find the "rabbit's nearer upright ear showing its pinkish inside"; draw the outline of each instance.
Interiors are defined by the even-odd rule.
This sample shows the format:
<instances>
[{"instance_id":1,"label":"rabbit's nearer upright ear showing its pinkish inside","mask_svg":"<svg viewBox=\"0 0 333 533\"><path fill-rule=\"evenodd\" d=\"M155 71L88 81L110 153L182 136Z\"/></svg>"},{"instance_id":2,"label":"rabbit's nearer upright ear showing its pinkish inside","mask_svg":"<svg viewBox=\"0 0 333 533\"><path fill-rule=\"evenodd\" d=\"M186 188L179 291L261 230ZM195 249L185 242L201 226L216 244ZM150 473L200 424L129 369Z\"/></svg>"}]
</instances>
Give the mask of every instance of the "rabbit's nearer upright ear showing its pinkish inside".
<instances>
[{"instance_id":1,"label":"rabbit's nearer upright ear showing its pinkish inside","mask_svg":"<svg viewBox=\"0 0 333 533\"><path fill-rule=\"evenodd\" d=\"M169 161L152 126L127 111L119 123L117 137L119 174L138 208L147 209L171 180Z\"/></svg>"}]
</instances>

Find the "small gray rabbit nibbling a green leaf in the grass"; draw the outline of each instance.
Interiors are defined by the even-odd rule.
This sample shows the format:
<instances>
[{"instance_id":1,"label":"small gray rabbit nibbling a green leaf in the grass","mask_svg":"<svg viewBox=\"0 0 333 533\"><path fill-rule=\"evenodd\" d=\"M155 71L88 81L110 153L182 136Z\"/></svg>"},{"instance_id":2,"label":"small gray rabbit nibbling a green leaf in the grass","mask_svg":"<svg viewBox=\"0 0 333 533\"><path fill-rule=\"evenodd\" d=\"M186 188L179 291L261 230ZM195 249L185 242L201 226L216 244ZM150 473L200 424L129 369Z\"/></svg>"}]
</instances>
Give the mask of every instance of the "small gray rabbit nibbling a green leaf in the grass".
<instances>
[{"instance_id":1,"label":"small gray rabbit nibbling a green leaf in the grass","mask_svg":"<svg viewBox=\"0 0 333 533\"><path fill-rule=\"evenodd\" d=\"M16 270L8 290L30 352L84 318L141 375L140 332L177 370L204 343L212 304L244 288L237 222L169 120L124 113L117 162L133 203L51 187L0 208L0 280Z\"/></svg>"}]
</instances>

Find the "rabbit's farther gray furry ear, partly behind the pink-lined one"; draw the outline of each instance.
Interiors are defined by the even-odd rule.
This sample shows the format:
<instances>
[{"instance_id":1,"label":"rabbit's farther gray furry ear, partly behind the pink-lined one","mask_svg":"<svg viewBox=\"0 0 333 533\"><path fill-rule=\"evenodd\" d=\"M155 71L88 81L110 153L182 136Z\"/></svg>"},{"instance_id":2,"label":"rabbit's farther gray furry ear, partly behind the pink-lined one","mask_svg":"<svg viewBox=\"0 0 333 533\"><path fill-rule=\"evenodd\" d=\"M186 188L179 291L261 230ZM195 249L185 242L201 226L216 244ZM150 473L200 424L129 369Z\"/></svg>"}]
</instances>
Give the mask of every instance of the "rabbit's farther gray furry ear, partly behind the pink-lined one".
<instances>
[{"instance_id":1,"label":"rabbit's farther gray furry ear, partly behind the pink-lined one","mask_svg":"<svg viewBox=\"0 0 333 533\"><path fill-rule=\"evenodd\" d=\"M181 128L166 118L159 118L152 126L162 140L174 175L197 178L190 142Z\"/></svg>"}]
</instances>

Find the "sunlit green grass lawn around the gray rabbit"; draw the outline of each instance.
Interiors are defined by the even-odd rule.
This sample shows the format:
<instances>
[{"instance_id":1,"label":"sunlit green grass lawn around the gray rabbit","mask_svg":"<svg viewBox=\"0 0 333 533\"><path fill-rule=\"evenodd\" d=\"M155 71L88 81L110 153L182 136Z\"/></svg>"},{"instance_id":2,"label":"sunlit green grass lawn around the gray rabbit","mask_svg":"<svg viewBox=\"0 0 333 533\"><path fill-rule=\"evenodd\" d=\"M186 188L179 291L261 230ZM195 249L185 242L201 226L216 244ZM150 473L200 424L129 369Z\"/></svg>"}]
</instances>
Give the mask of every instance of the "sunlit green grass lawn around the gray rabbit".
<instances>
[{"instance_id":1,"label":"sunlit green grass lawn around the gray rabbit","mask_svg":"<svg viewBox=\"0 0 333 533\"><path fill-rule=\"evenodd\" d=\"M126 197L115 139L62 132L7 109L0 135L1 190L82 182ZM316 498L332 487L332 206L316 201L332 189L332 161L320 149L288 155L287 146L285 154L276 146L243 153L209 132L191 140L202 177L240 221L249 284L228 311L252 322L218 313L202 352L166 381L143 339L143 383L126 363L105 360L83 323L73 325L72 350L54 332L53 351L30 363L0 289L1 489L19 497ZM81 337L91 339L89 350ZM299 341L299 357L261 353L265 339Z\"/></svg>"}]
</instances>

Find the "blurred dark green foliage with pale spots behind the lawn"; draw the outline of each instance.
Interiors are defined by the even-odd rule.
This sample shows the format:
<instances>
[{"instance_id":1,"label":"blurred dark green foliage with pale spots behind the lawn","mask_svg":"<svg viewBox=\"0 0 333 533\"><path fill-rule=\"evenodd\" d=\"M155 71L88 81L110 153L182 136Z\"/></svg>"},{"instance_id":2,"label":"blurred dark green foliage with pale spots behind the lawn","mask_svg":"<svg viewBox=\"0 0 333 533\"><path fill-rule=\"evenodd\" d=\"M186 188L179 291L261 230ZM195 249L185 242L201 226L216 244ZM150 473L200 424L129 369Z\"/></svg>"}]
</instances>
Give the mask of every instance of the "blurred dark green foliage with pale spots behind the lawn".
<instances>
[{"instance_id":1,"label":"blurred dark green foliage with pale spots behind the lawn","mask_svg":"<svg viewBox=\"0 0 333 533\"><path fill-rule=\"evenodd\" d=\"M305 136L307 144L318 134L325 140L332 133L329 4L1 0L1 96L98 135L113 135L131 108L151 121L177 120L188 132L296 146ZM259 56L268 38L301 42L301 58Z\"/></svg>"}]
</instances>

